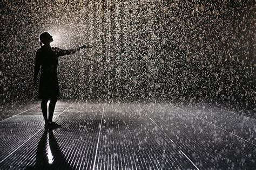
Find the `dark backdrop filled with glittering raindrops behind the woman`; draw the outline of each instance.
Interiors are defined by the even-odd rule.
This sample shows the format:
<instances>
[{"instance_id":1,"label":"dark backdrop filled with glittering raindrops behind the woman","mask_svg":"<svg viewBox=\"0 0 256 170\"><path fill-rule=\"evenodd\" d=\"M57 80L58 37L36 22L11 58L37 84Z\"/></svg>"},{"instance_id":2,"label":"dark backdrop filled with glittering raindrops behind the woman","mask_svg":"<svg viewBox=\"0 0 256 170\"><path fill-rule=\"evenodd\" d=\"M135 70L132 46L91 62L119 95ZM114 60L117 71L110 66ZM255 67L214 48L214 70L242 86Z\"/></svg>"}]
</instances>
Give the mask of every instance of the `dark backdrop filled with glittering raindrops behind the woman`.
<instances>
[{"instance_id":1,"label":"dark backdrop filled with glittering raindrops behind the woman","mask_svg":"<svg viewBox=\"0 0 256 170\"><path fill-rule=\"evenodd\" d=\"M33 101L38 36L93 45L59 59L63 100L254 109L253 1L1 2L1 104Z\"/></svg>"}]
</instances>

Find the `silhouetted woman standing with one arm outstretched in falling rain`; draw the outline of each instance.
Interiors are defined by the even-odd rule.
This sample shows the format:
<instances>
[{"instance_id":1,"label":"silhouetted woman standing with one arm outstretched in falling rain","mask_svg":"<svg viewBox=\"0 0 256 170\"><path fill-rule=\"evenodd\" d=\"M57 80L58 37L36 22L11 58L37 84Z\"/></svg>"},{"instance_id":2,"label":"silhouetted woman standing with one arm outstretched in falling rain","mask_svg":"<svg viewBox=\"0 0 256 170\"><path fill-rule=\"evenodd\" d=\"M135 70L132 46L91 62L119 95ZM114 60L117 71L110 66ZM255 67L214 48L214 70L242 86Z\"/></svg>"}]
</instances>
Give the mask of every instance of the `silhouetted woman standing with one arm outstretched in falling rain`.
<instances>
[{"instance_id":1,"label":"silhouetted woman standing with one arm outstretched in falling rain","mask_svg":"<svg viewBox=\"0 0 256 170\"><path fill-rule=\"evenodd\" d=\"M36 51L35 58L35 73L33 77L33 83L36 85L37 75L41 69L38 97L42 100L41 109L45 121L45 128L56 128L55 122L52 122L52 116L55 109L57 98L59 97L59 83L57 77L57 67L59 56L73 54L83 48L91 48L91 46L82 46L75 49L60 49L57 47L51 47L50 43L53 41L52 36L48 32L40 34L41 48ZM44 45L43 45L44 44ZM49 104L49 118L47 117L47 102L50 99Z\"/></svg>"}]
</instances>

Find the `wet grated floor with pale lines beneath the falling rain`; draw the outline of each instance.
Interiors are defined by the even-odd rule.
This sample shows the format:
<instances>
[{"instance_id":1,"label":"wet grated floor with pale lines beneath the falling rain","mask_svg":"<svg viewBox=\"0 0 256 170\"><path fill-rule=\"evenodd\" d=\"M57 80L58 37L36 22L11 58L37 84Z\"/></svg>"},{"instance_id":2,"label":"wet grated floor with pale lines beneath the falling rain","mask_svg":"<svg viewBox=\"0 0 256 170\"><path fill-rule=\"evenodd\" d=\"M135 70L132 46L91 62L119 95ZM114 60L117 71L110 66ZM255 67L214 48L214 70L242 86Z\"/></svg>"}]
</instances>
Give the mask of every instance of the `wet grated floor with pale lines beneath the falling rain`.
<instances>
[{"instance_id":1,"label":"wet grated floor with pale lines beneath the falling rain","mask_svg":"<svg viewBox=\"0 0 256 170\"><path fill-rule=\"evenodd\" d=\"M255 119L220 109L58 102L63 127L44 131L34 103L1 119L0 169L256 167Z\"/></svg>"}]
</instances>

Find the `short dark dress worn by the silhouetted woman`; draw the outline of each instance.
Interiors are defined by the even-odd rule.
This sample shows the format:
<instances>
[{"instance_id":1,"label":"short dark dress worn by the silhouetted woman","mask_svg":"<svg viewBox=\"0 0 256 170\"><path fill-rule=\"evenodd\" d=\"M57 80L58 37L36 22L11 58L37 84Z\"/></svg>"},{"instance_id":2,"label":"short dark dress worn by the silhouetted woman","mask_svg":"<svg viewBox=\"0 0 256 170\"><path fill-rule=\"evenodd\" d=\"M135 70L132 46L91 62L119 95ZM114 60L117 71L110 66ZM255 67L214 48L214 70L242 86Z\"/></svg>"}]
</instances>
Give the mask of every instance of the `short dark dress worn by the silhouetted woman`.
<instances>
[{"instance_id":1,"label":"short dark dress worn by the silhouetted woman","mask_svg":"<svg viewBox=\"0 0 256 170\"><path fill-rule=\"evenodd\" d=\"M41 47L36 51L35 67L41 66L38 98L49 99L59 97L57 75L58 58L66 55L66 50L57 47Z\"/></svg>"}]
</instances>

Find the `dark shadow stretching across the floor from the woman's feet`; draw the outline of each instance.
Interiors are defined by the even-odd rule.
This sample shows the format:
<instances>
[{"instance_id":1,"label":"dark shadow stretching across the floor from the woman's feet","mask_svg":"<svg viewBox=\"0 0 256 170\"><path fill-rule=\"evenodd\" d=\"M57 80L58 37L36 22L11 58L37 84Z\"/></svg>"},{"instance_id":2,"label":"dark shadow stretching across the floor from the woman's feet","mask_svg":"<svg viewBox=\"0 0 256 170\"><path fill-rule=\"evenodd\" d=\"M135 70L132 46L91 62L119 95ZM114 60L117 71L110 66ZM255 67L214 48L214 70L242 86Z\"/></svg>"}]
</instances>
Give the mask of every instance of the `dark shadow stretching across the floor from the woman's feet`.
<instances>
[{"instance_id":1,"label":"dark shadow stretching across the floor from the woman's feet","mask_svg":"<svg viewBox=\"0 0 256 170\"><path fill-rule=\"evenodd\" d=\"M52 130L44 130L37 145L36 164L26 169L73 169L60 151Z\"/></svg>"}]
</instances>

